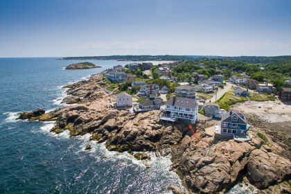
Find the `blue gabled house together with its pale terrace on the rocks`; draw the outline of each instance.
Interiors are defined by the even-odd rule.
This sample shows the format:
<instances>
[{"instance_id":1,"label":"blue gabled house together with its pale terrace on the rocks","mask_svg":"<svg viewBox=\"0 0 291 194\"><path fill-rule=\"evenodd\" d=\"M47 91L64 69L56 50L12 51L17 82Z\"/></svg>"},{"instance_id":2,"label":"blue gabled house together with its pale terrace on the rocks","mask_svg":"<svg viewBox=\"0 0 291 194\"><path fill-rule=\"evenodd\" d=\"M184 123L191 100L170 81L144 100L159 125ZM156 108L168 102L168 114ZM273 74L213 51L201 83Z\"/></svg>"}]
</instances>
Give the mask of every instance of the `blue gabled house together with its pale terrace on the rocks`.
<instances>
[{"instance_id":1,"label":"blue gabled house together with its pale terrace on the rocks","mask_svg":"<svg viewBox=\"0 0 291 194\"><path fill-rule=\"evenodd\" d=\"M231 111L227 114L222 114L222 121L220 131L215 131L215 137L228 136L229 139L235 139L236 141L248 141L247 136L249 125L245 116L241 113Z\"/></svg>"}]
</instances>

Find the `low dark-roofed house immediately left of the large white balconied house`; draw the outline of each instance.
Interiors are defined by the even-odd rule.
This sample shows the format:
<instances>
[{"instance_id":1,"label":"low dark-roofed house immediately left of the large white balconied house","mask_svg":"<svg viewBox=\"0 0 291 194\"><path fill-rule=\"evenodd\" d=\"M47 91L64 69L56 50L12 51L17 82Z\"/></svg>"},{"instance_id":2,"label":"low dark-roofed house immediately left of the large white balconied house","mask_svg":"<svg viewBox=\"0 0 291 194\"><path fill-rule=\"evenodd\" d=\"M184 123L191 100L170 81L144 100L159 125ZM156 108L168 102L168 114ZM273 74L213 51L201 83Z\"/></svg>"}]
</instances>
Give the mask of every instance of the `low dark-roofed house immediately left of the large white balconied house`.
<instances>
[{"instance_id":1,"label":"low dark-roofed house immediately left of the large white balconied house","mask_svg":"<svg viewBox=\"0 0 291 194\"><path fill-rule=\"evenodd\" d=\"M163 103L161 98L147 98L134 107L134 112L146 112L154 109L159 109Z\"/></svg>"}]
</instances>

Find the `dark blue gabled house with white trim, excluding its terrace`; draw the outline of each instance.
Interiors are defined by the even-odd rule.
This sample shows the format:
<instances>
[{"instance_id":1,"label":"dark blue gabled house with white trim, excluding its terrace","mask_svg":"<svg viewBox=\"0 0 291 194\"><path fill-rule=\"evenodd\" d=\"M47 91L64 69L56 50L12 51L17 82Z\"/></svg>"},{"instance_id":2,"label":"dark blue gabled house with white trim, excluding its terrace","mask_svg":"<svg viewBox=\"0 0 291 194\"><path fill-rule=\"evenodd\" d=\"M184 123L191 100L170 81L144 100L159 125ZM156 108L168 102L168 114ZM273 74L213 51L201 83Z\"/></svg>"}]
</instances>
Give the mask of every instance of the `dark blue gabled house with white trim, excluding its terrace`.
<instances>
[{"instance_id":1,"label":"dark blue gabled house with white trim, excluding its terrace","mask_svg":"<svg viewBox=\"0 0 291 194\"><path fill-rule=\"evenodd\" d=\"M237 112L222 114L220 134L229 136L246 135L249 130L245 116Z\"/></svg>"}]
</instances>

